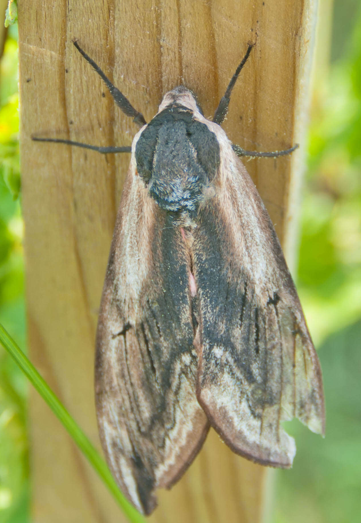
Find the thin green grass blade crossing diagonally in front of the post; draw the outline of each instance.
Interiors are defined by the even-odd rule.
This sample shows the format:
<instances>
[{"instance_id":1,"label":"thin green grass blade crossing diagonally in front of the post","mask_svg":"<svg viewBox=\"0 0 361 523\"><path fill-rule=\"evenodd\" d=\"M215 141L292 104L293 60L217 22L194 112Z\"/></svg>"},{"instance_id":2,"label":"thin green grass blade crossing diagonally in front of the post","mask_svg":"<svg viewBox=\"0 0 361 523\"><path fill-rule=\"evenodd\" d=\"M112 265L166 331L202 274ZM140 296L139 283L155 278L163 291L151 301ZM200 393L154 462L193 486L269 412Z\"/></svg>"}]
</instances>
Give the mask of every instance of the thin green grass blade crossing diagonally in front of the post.
<instances>
[{"instance_id":1,"label":"thin green grass blade crossing diagonally in front of the post","mask_svg":"<svg viewBox=\"0 0 361 523\"><path fill-rule=\"evenodd\" d=\"M131 523L144 523L144 518L139 512L127 501L125 496L120 492L115 483L109 469L100 457L99 453L92 445L91 441L85 436L82 429L77 425L72 416L67 412L64 405L58 400L58 397L50 389L49 385L40 376L39 372L32 365L29 359L25 356L22 350L15 343L13 338L6 332L5 328L0 324L0 343L4 346L7 352L14 358L22 372L27 376L32 385L39 392L44 401L46 401L55 414L69 432L71 437L76 442L77 446L86 456L88 461L93 465L96 472L109 488L112 495L119 503L121 509L128 517Z\"/></svg>"}]
</instances>

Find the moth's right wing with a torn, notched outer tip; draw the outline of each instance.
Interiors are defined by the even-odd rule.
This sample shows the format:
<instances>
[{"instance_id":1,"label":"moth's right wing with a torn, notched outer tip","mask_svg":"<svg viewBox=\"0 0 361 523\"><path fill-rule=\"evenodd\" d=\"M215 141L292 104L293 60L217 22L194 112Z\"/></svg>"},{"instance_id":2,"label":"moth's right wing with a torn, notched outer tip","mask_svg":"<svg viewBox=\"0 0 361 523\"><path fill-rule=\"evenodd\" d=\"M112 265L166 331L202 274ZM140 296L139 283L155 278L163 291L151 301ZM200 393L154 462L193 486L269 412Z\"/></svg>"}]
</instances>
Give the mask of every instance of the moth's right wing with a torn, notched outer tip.
<instances>
[{"instance_id":1,"label":"moth's right wing with a torn, notched outer tip","mask_svg":"<svg viewBox=\"0 0 361 523\"><path fill-rule=\"evenodd\" d=\"M233 451L290 467L295 441L280 423L297 417L324 433L319 360L273 224L219 129L217 196L200 209L193 244L197 397Z\"/></svg>"}]
</instances>

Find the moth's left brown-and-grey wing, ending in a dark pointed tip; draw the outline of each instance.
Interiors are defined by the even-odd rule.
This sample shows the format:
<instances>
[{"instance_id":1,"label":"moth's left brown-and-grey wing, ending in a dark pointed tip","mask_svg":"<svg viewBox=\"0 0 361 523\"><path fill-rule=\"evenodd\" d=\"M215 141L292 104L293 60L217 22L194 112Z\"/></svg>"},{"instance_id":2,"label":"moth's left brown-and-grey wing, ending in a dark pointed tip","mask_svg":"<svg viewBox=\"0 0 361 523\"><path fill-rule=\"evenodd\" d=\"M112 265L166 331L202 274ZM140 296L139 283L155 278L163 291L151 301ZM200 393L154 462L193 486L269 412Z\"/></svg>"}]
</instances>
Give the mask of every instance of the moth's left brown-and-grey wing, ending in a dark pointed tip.
<instances>
[{"instance_id":1,"label":"moth's left brown-and-grey wing, ending in a dark pointed tip","mask_svg":"<svg viewBox=\"0 0 361 523\"><path fill-rule=\"evenodd\" d=\"M189 254L132 165L98 320L96 407L114 477L150 514L155 489L183 474L209 425L195 394Z\"/></svg>"}]
</instances>

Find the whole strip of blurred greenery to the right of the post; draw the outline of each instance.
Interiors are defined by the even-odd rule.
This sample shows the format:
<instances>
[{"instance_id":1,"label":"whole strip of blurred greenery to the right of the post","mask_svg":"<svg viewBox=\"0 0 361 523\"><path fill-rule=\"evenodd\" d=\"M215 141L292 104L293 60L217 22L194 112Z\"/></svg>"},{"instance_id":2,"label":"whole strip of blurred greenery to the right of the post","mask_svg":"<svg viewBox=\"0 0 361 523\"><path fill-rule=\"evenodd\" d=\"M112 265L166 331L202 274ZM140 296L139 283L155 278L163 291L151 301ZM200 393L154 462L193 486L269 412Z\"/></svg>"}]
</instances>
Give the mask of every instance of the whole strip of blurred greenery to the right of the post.
<instances>
[{"instance_id":1,"label":"whole strip of blurred greenery to the right of the post","mask_svg":"<svg viewBox=\"0 0 361 523\"><path fill-rule=\"evenodd\" d=\"M360 4L337 0L333 19L330 69L315 71L298 278L321 360L326 437L287 424L297 454L292 470L277 472L274 523L360 521Z\"/></svg>"}]
</instances>

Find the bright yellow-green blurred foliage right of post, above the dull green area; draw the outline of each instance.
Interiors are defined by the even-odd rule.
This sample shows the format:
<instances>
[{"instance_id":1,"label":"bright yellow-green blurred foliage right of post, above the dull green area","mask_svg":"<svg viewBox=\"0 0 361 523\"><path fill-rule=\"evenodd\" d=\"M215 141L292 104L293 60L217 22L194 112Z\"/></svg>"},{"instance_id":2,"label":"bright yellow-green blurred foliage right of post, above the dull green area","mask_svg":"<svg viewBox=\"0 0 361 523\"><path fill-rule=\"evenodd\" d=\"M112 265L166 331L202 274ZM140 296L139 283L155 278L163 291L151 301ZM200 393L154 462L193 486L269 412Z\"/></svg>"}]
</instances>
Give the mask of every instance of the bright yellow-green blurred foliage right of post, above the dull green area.
<instances>
[{"instance_id":1,"label":"bright yellow-green blurred foliage right of post, above the dull green area","mask_svg":"<svg viewBox=\"0 0 361 523\"><path fill-rule=\"evenodd\" d=\"M361 316L359 6L358 11L342 58L328 75L315 73L298 288L317 345Z\"/></svg>"}]
</instances>

